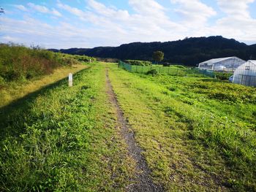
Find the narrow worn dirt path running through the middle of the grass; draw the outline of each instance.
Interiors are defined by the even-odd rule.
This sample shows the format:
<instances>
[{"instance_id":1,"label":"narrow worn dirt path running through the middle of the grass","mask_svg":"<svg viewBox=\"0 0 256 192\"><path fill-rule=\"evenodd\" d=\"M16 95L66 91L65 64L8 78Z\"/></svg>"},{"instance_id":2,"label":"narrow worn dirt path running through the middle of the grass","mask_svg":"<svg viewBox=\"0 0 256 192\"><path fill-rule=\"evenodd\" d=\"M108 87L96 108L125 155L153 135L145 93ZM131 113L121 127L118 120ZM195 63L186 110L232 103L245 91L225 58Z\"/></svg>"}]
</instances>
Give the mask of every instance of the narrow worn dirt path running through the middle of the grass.
<instances>
[{"instance_id":1,"label":"narrow worn dirt path running through the middle of the grass","mask_svg":"<svg viewBox=\"0 0 256 192\"><path fill-rule=\"evenodd\" d=\"M135 142L134 133L129 130L127 121L124 118L120 106L118 105L116 95L113 91L113 87L108 77L108 69L106 69L106 82L109 99L111 103L116 107L117 120L121 128L121 136L127 143L129 155L131 155L132 158L134 158L137 163L137 175L135 183L127 186L127 191L164 191L161 186L154 184L153 181L151 180L150 170L148 169L145 158L143 157L143 155L141 155L142 149Z\"/></svg>"}]
</instances>

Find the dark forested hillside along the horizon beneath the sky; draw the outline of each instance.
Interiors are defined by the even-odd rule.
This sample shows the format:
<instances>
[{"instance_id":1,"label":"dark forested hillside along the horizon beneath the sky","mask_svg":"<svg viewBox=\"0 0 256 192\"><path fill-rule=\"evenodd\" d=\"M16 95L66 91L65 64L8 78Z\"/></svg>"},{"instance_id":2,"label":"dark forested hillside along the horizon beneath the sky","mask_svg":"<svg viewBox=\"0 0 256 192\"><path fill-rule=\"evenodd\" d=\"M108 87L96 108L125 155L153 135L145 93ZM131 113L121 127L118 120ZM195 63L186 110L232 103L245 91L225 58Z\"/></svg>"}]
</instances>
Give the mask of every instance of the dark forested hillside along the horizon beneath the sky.
<instances>
[{"instance_id":1,"label":"dark forested hillside along the horizon beneath the sky","mask_svg":"<svg viewBox=\"0 0 256 192\"><path fill-rule=\"evenodd\" d=\"M132 42L119 47L71 48L53 50L61 53L89 55L99 58L139 59L151 61L152 53L161 50L165 61L195 66L211 58L237 56L256 59L256 45L246 45L235 39L191 37L173 42Z\"/></svg>"}]
</instances>

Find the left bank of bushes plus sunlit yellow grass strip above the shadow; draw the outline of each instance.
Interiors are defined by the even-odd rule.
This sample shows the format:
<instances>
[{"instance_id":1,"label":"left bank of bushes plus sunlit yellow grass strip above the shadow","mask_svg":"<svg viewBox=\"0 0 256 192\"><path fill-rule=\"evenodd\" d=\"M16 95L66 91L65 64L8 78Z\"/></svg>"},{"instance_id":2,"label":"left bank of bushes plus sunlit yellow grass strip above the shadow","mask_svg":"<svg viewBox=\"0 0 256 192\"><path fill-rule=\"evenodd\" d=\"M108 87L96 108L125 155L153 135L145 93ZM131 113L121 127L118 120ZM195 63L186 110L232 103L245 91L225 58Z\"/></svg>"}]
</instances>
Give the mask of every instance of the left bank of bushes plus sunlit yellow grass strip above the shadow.
<instances>
[{"instance_id":1,"label":"left bank of bushes plus sunlit yellow grass strip above the shadow","mask_svg":"<svg viewBox=\"0 0 256 192\"><path fill-rule=\"evenodd\" d=\"M37 91L44 85L86 68L94 58L65 55L21 45L0 45L0 107Z\"/></svg>"}]
</instances>

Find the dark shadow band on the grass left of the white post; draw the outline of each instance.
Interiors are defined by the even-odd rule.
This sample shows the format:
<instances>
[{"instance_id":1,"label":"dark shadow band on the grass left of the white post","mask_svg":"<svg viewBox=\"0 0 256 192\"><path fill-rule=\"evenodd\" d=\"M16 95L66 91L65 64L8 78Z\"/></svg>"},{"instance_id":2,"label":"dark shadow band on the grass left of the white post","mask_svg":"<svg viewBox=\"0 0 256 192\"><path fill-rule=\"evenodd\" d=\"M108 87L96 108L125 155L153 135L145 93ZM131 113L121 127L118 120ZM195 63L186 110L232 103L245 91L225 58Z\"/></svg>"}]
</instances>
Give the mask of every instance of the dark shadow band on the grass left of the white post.
<instances>
[{"instance_id":1,"label":"dark shadow band on the grass left of the white post","mask_svg":"<svg viewBox=\"0 0 256 192\"><path fill-rule=\"evenodd\" d=\"M89 68L87 68L89 69ZM83 72L87 69L83 69L80 72ZM80 74L77 72L75 74ZM59 87L60 85L67 84L67 77L63 79L45 85L33 93L29 93L26 96L23 96L20 99L16 99L12 101L10 104L7 104L4 107L0 108L0 141L5 137L18 137L22 134L24 129L24 123L26 123L26 116L31 111L31 107L34 104L35 99L38 96L44 95L49 90L53 90L54 88ZM67 84L68 86L68 84ZM36 121L36 119L34 119Z\"/></svg>"}]
</instances>

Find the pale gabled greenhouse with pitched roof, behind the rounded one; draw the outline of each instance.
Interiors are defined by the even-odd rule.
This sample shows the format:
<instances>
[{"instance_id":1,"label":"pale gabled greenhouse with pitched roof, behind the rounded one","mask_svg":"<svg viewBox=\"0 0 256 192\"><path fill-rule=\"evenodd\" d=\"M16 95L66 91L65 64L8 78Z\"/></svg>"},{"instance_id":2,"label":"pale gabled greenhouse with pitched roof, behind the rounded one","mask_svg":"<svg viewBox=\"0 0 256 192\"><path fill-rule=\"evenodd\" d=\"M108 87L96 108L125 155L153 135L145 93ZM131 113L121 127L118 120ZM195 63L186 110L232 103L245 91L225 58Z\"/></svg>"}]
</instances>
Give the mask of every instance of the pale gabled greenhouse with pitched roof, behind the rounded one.
<instances>
[{"instance_id":1,"label":"pale gabled greenhouse with pitched roof, behind the rounded one","mask_svg":"<svg viewBox=\"0 0 256 192\"><path fill-rule=\"evenodd\" d=\"M245 62L246 61L237 57L213 58L208 61L203 61L198 65L198 68L217 72L234 72L238 66L241 66Z\"/></svg>"}]
</instances>

